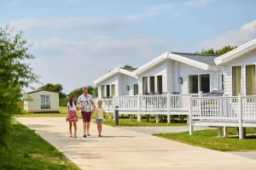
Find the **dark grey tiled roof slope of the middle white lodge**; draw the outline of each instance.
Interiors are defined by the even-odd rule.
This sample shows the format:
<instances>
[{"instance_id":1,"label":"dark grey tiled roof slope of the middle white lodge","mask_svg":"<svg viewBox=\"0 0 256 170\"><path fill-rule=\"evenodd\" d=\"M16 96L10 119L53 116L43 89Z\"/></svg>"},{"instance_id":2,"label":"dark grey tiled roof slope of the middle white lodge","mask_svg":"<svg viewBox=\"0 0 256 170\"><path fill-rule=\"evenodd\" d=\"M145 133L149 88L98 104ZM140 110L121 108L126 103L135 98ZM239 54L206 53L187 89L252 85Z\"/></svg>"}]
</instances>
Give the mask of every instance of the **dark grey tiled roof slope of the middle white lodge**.
<instances>
[{"instance_id":1,"label":"dark grey tiled roof slope of the middle white lodge","mask_svg":"<svg viewBox=\"0 0 256 170\"><path fill-rule=\"evenodd\" d=\"M210 66L217 66L214 62L214 59L219 56L219 55L212 55L212 54L188 54L188 53L176 53L176 52L171 52L171 53L181 55L188 59L193 59L195 61L205 63Z\"/></svg>"}]
</instances>

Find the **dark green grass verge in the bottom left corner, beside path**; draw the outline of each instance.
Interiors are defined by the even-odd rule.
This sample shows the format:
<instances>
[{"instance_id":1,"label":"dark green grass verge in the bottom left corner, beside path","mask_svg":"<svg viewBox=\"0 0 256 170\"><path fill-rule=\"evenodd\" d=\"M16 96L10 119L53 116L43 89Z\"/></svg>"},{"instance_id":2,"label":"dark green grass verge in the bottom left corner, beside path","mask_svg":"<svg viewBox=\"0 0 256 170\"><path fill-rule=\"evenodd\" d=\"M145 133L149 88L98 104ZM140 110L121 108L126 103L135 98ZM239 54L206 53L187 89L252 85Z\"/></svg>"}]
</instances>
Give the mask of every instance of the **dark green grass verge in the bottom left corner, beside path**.
<instances>
[{"instance_id":1,"label":"dark green grass verge in the bottom left corner, beside path","mask_svg":"<svg viewBox=\"0 0 256 170\"><path fill-rule=\"evenodd\" d=\"M16 121L12 124L9 149L0 150L0 169L79 170L72 161L67 160L67 157L31 129Z\"/></svg>"}]
</instances>

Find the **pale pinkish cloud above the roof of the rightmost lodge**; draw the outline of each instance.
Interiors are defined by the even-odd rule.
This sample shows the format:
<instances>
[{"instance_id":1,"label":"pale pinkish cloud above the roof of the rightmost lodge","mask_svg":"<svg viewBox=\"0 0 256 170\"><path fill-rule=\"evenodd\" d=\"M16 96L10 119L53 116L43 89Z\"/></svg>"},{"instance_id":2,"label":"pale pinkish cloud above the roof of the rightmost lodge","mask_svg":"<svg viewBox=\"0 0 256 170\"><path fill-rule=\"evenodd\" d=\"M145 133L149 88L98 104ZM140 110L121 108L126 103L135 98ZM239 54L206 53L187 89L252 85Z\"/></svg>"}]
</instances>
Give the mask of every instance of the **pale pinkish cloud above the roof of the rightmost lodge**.
<instances>
[{"instance_id":1,"label":"pale pinkish cloud above the roof of the rightmost lodge","mask_svg":"<svg viewBox=\"0 0 256 170\"><path fill-rule=\"evenodd\" d=\"M239 30L226 31L218 37L201 42L202 48L223 48L231 45L237 46L256 38L256 20L253 20L243 26Z\"/></svg>"}]
</instances>

